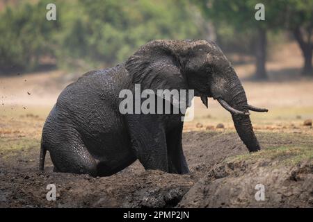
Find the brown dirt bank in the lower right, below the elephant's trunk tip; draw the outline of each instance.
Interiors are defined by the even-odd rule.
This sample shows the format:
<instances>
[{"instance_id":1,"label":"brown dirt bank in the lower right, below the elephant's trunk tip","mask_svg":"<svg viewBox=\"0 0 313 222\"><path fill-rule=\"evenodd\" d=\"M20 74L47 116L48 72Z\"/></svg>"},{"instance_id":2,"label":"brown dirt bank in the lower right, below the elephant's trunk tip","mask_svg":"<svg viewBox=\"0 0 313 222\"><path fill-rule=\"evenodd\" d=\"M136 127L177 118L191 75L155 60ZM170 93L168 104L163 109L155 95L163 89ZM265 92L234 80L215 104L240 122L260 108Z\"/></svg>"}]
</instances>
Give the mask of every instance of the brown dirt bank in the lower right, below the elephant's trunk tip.
<instances>
[{"instance_id":1,"label":"brown dirt bank in the lower right, below the elephant's trunk tip","mask_svg":"<svg viewBox=\"0 0 313 222\"><path fill-rule=\"evenodd\" d=\"M312 173L312 161L219 164L191 187L178 207L313 207ZM261 189L263 199L257 194Z\"/></svg>"}]
</instances>

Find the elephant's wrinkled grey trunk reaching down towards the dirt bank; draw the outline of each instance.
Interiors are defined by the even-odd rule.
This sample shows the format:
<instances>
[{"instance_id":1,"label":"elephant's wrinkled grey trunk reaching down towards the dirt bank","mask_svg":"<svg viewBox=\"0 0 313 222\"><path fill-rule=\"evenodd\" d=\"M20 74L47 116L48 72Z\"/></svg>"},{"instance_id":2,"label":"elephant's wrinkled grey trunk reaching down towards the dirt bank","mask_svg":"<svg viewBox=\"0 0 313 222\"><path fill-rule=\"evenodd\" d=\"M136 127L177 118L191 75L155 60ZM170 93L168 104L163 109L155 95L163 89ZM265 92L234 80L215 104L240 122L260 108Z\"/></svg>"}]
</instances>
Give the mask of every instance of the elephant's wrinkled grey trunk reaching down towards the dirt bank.
<instances>
[{"instance_id":1,"label":"elephant's wrinkled grey trunk reaching down towards the dirt bank","mask_svg":"<svg viewBox=\"0 0 313 222\"><path fill-rule=\"evenodd\" d=\"M232 92L228 92L227 102L234 110L240 110L239 112L232 112L234 126L248 150L250 152L259 151L259 142L257 141L257 137L255 137L250 117L248 115L249 105L247 103L246 93L238 77L236 77L233 83L235 83L235 86L232 87Z\"/></svg>"}]
</instances>

